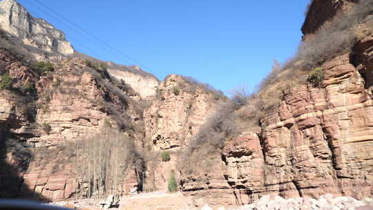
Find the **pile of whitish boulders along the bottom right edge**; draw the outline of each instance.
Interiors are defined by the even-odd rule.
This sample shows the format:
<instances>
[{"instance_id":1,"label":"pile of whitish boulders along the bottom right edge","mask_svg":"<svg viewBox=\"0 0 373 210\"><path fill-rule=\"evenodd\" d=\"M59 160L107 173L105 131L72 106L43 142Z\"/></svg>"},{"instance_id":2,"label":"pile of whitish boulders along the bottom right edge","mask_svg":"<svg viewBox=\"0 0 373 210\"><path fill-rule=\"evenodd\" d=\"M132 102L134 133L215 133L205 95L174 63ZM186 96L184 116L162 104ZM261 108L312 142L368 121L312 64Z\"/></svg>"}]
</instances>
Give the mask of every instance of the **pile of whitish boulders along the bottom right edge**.
<instances>
[{"instance_id":1,"label":"pile of whitish boulders along the bottom right edge","mask_svg":"<svg viewBox=\"0 0 373 210\"><path fill-rule=\"evenodd\" d=\"M265 195L257 202L246 204L236 210L373 210L373 198L365 198L364 200L356 200L351 197L334 197L332 194L322 195L318 200L313 198L289 198L284 199L280 196ZM212 210L209 205L204 205L201 210ZM225 210L220 207L218 210Z\"/></svg>"}]
</instances>

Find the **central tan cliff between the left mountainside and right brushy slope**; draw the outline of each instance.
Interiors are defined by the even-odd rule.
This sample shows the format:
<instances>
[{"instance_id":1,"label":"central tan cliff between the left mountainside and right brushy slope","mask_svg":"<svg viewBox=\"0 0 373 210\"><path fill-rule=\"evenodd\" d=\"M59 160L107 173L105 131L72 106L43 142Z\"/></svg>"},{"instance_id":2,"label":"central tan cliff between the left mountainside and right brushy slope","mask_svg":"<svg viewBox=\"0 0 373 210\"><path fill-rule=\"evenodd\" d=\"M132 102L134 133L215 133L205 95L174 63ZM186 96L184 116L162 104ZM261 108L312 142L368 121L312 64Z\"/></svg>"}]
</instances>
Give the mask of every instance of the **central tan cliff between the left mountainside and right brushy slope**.
<instances>
[{"instance_id":1,"label":"central tan cliff between the left mountainside and right brushy slope","mask_svg":"<svg viewBox=\"0 0 373 210\"><path fill-rule=\"evenodd\" d=\"M179 75L170 75L161 82L157 94L144 112L145 139L155 153L171 154L169 162L161 162L158 156L153 169L155 186L166 190L170 171L176 169L178 151L189 144L214 113L219 99Z\"/></svg>"}]
</instances>

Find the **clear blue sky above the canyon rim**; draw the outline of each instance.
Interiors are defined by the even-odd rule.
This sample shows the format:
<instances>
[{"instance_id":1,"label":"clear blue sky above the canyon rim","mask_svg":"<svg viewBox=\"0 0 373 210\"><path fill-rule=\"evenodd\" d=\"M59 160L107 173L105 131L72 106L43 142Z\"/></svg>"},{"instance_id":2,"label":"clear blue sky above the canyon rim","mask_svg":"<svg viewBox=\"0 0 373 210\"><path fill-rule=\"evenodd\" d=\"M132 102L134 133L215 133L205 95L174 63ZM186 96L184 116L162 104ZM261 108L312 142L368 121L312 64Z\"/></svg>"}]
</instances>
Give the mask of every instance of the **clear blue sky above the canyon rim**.
<instances>
[{"instance_id":1,"label":"clear blue sky above the canyon rim","mask_svg":"<svg viewBox=\"0 0 373 210\"><path fill-rule=\"evenodd\" d=\"M140 62L159 79L187 75L215 88L253 89L273 60L294 55L309 0L44 1L91 34ZM35 17L66 33L79 52L133 64L41 6L19 0ZM40 10L41 9L41 10ZM79 32L77 32L79 31Z\"/></svg>"}]
</instances>

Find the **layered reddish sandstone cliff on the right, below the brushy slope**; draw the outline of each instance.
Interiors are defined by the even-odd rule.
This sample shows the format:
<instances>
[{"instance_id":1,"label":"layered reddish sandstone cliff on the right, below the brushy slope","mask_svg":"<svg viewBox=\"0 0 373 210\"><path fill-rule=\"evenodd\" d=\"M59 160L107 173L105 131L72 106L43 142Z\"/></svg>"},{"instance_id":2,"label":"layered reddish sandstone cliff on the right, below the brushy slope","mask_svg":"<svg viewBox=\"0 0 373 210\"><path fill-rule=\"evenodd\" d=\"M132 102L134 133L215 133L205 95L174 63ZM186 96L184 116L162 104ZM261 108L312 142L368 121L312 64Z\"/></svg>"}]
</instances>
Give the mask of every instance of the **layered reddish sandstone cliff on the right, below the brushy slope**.
<instances>
[{"instance_id":1,"label":"layered reddish sandstone cliff on the right, below the brushy slope","mask_svg":"<svg viewBox=\"0 0 373 210\"><path fill-rule=\"evenodd\" d=\"M262 118L261 132L247 128L227 142L222 172L213 170L217 178L183 178L185 193L211 204L249 204L267 194L372 196L372 40L358 41L359 59L346 54L323 64L323 88L288 90ZM218 155L213 167L221 167ZM224 190L211 180L220 180Z\"/></svg>"}]
</instances>

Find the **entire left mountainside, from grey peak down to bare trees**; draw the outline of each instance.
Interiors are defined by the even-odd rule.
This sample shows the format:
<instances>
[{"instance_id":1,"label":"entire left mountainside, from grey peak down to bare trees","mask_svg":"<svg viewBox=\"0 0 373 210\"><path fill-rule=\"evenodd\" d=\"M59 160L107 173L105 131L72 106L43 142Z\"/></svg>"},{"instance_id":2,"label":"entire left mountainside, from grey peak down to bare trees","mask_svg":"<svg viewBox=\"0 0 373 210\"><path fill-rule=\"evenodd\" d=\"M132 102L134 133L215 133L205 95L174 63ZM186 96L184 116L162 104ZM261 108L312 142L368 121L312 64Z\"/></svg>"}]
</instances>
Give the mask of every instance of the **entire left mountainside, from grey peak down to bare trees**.
<instances>
[{"instance_id":1,"label":"entire left mountainside, from grey peak down to bare trees","mask_svg":"<svg viewBox=\"0 0 373 210\"><path fill-rule=\"evenodd\" d=\"M157 78L75 53L62 32L16 1L0 1L0 17L0 198L98 196L90 185L102 175L93 162L120 155L119 175L106 169L106 180L115 179L118 194L128 192L143 170L144 99L154 95ZM116 79L108 66L126 74ZM121 154L97 151L104 140L106 150L121 145Z\"/></svg>"}]
</instances>

